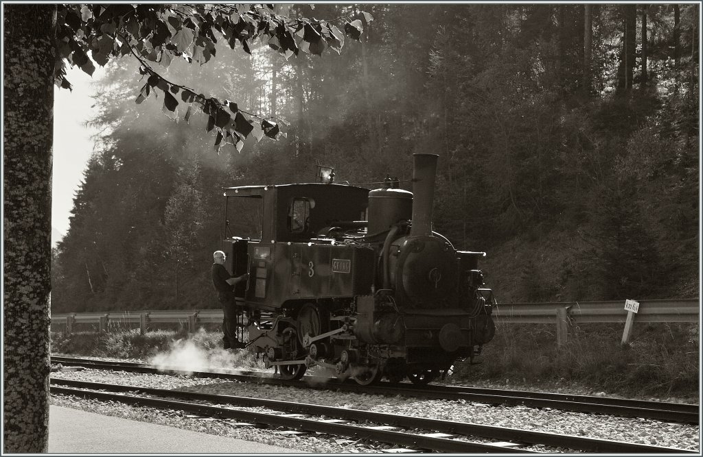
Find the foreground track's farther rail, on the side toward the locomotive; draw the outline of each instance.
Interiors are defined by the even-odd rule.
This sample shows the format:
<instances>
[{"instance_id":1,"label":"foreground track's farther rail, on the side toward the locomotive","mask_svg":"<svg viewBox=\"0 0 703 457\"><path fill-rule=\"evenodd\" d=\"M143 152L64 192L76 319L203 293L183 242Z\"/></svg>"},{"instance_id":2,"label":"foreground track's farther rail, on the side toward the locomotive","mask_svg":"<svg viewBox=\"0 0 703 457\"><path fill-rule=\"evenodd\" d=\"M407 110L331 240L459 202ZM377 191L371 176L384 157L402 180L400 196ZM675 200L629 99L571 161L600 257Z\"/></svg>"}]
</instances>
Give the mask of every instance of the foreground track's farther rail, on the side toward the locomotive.
<instances>
[{"instance_id":1,"label":"foreground track's farther rail, on the side toward the locomotive","mask_svg":"<svg viewBox=\"0 0 703 457\"><path fill-rule=\"evenodd\" d=\"M650 446L628 442L615 442L606 439L575 437L550 432L535 432L515 428L494 427L475 423L457 422L452 420L439 420L428 418L415 418L397 416L395 414L361 411L358 409L336 408L316 404L299 402L284 402L280 400L258 399L251 397L238 397L234 395L215 395L184 390L165 390L155 388L139 388L128 385L112 385L104 383L91 383L77 380L52 380L52 385L66 385L74 388L88 388L91 390L111 390L117 392L141 392L158 397L175 397L179 399L197 399L211 403L232 404L236 406L264 407L268 409L303 413L328 418L362 421L393 425L399 428L433 430L453 435L476 436L489 439L498 439L507 442L525 444L544 444L546 446L577 449L581 451L618 452L618 453L692 453L682 449ZM422 436L422 435L420 435ZM431 449L431 448L426 448Z\"/></svg>"}]
</instances>

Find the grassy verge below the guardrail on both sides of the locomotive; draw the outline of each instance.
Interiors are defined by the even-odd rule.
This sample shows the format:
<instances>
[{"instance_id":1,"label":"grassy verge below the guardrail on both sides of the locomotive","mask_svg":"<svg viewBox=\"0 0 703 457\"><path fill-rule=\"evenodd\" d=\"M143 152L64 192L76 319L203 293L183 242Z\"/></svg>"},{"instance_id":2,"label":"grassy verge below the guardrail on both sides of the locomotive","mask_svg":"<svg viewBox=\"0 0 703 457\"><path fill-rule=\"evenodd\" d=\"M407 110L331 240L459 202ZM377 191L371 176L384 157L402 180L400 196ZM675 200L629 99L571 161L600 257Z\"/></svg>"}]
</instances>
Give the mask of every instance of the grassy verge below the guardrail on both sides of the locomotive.
<instances>
[{"instance_id":1,"label":"grassy verge below the guardrail on both sides of the locomotive","mask_svg":"<svg viewBox=\"0 0 703 457\"><path fill-rule=\"evenodd\" d=\"M152 363L251 368L261 363L245 351L221 349L219 331L191 335L155 330L111 329L52 333L53 353L143 359ZM625 397L699 397L699 340L696 324L640 324L631 344L621 347L621 326L584 324L569 329L568 342L556 345L547 324L499 325L485 345L480 364L459 362L450 380L469 384L510 384L527 389L579 387Z\"/></svg>"}]
</instances>

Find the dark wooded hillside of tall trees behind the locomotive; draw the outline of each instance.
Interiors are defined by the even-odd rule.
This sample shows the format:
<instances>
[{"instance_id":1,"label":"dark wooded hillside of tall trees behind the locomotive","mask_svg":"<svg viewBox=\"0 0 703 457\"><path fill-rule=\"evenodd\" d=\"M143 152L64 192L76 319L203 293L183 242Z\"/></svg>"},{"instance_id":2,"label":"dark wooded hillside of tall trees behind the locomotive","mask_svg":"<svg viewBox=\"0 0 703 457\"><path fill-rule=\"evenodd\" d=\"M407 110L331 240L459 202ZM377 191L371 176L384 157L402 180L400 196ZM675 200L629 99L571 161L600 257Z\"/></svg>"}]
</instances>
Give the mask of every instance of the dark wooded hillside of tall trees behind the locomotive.
<instances>
[{"instance_id":1,"label":"dark wooded hillside of tall trees behind the locomotive","mask_svg":"<svg viewBox=\"0 0 703 457\"><path fill-rule=\"evenodd\" d=\"M373 21L339 54L286 59L264 41L161 62L169 81L285 120L277 141L243 147L165 97L136 103L140 62L110 62L51 310L219 307L222 187L310 182L325 165L412 190L415 152L439 154L435 230L487 253L499 303L697 298L698 8L364 4Z\"/></svg>"}]
</instances>

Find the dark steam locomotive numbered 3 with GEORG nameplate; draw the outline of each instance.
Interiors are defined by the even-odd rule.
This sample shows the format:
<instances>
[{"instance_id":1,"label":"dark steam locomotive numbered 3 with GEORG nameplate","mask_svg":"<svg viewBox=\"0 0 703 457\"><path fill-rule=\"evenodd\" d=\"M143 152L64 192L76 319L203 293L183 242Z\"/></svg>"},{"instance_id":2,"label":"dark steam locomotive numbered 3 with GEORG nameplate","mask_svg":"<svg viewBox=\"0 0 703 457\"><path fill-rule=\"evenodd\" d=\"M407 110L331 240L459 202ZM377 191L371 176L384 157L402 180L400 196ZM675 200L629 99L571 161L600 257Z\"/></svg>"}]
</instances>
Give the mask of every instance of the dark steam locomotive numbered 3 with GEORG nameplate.
<instances>
[{"instance_id":1,"label":"dark steam locomotive numbered 3 with GEORG nameplate","mask_svg":"<svg viewBox=\"0 0 703 457\"><path fill-rule=\"evenodd\" d=\"M432 231L437 159L414 154L414 194L343 183L224 189L226 231L246 214L257 227L226 236L224 250L233 275L249 273L235 289L238 323L266 368L423 385L480 354L495 333L478 268L486 254Z\"/></svg>"}]
</instances>

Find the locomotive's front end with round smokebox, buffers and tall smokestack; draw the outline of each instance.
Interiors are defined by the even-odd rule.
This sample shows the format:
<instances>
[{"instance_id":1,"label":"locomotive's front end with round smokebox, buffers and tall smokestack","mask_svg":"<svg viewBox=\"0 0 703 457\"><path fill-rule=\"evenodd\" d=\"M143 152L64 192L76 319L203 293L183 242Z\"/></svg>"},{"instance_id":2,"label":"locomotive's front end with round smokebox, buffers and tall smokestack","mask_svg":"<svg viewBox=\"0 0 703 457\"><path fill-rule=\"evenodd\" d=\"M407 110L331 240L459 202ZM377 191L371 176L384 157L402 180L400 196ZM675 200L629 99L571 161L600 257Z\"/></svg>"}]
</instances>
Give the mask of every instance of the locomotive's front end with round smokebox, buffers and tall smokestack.
<instances>
[{"instance_id":1,"label":"locomotive's front end with round smokebox, buffers and tall smokestack","mask_svg":"<svg viewBox=\"0 0 703 457\"><path fill-rule=\"evenodd\" d=\"M424 383L456 359L478 355L493 338L494 297L478 269L485 253L457 251L432 231L437 155L414 158L410 230L402 220L389 230L380 256L382 288L358 298L355 331L370 345L387 345L388 378Z\"/></svg>"}]
</instances>

